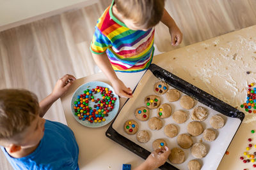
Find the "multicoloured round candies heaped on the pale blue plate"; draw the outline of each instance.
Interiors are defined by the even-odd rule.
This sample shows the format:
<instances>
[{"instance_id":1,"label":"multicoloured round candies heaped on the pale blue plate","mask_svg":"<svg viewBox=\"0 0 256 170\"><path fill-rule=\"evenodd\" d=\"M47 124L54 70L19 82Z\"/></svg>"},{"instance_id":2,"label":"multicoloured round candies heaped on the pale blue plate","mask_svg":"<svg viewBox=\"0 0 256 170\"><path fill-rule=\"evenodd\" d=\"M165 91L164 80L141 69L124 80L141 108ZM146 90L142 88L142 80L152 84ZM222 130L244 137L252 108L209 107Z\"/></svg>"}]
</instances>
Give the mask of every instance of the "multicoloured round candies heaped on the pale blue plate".
<instances>
[{"instance_id":1,"label":"multicoloured round candies heaped on the pale blue plate","mask_svg":"<svg viewBox=\"0 0 256 170\"><path fill-rule=\"evenodd\" d=\"M101 94L101 99L93 96L93 94ZM90 101L94 102L93 108L89 106ZM74 114L79 120L88 120L88 122L105 122L109 111L112 111L115 106L116 97L111 90L106 87L97 86L95 89L86 89L83 94L77 96L77 101L74 101Z\"/></svg>"}]
</instances>

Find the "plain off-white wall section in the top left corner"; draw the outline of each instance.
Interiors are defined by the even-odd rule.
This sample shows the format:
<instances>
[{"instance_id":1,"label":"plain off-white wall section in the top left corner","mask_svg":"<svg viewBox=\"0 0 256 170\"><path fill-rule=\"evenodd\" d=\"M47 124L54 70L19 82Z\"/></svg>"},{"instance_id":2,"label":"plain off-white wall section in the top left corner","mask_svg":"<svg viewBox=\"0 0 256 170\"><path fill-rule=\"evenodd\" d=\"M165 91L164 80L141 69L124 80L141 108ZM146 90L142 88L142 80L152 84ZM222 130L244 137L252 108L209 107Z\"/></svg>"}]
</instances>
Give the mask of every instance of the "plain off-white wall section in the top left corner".
<instances>
[{"instance_id":1,"label":"plain off-white wall section in the top left corner","mask_svg":"<svg viewBox=\"0 0 256 170\"><path fill-rule=\"evenodd\" d=\"M99 0L0 0L0 31L83 8Z\"/></svg>"}]
</instances>

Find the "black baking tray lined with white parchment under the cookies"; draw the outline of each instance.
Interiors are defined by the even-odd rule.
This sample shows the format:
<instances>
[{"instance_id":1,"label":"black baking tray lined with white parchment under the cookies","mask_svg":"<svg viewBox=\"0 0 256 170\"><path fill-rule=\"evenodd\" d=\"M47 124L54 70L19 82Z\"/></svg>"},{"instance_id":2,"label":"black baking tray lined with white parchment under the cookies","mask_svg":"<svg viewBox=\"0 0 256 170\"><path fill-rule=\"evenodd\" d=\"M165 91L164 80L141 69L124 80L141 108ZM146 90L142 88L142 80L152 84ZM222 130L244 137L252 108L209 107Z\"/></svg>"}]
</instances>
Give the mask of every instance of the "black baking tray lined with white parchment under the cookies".
<instances>
[{"instance_id":1,"label":"black baking tray lined with white parchment under the cookies","mask_svg":"<svg viewBox=\"0 0 256 170\"><path fill-rule=\"evenodd\" d=\"M204 129L211 128L209 124L209 120L212 115L221 115L225 119L225 125L221 129L216 130L217 137L212 142L204 141L203 143L207 146L208 153L203 158L200 159L202 164L202 170L215 170L225 155L225 152L230 145L230 142L234 138L234 135L237 132L237 129L241 125L241 122L244 118L244 113L237 110L236 108L220 101L214 96L211 96L207 92L204 92L201 89L198 89L194 85L191 85L187 81L180 79L179 77L173 75L172 73L164 70L163 68L157 66L156 64L151 64L145 74L143 74L141 80L138 85L134 89L133 96L131 99L128 99L124 106L118 113L118 116L109 126L108 131L106 132L106 136L116 143L124 146L128 150L136 155L139 155L143 159L147 159L148 155L153 151L152 142L155 139L161 138L164 139L170 149L174 147L179 147L177 145L177 136L182 133L187 133L186 126L189 122L191 122L191 110L184 110L180 107L179 101L170 103L167 101L165 94L161 95L161 104L168 103L172 106L172 113L175 110L184 110L188 113L188 120L184 124L176 124L172 116L169 118L163 118L164 126L167 124L175 124L179 127L179 134L175 138L168 138L164 135L164 126L159 131L151 131L148 128L148 121L141 122L136 119L134 116L134 111L136 108L141 106L145 106L144 98L148 95L154 94L154 83L157 81L165 81L169 85L169 89L177 89L180 91L181 96L188 95L195 99L195 108L196 106L203 106L207 109L209 115L206 120L202 122ZM159 96L159 95L157 95ZM150 118L157 116L157 110L150 110ZM135 120L139 124L140 130L147 130L150 134L150 140L147 143L140 143L136 139L136 134L129 135L124 132L124 123L129 120ZM202 134L200 136L192 137L193 143L197 143L202 140ZM163 166L159 167L159 169L188 169L187 164L189 160L195 159L191 155L191 148L183 149L185 152L185 161L182 164L171 164L168 160Z\"/></svg>"}]
</instances>

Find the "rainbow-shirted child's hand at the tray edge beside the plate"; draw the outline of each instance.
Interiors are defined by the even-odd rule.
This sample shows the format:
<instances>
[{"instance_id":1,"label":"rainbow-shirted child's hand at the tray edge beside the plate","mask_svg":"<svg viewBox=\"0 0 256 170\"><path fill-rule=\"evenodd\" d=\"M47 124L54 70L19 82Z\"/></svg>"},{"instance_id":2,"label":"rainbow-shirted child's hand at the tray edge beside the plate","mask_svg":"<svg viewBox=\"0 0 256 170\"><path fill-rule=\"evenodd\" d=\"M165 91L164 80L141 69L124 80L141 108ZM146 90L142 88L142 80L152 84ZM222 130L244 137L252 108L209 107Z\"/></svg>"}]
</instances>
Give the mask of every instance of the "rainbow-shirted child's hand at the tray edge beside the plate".
<instances>
[{"instance_id":1,"label":"rainbow-shirted child's hand at the tray edge beside the plate","mask_svg":"<svg viewBox=\"0 0 256 170\"><path fill-rule=\"evenodd\" d=\"M131 98L132 97L132 90L130 88L127 88L123 81L120 79L115 80L112 82L113 89L115 90L115 93L120 96L120 97L127 97Z\"/></svg>"}]
</instances>

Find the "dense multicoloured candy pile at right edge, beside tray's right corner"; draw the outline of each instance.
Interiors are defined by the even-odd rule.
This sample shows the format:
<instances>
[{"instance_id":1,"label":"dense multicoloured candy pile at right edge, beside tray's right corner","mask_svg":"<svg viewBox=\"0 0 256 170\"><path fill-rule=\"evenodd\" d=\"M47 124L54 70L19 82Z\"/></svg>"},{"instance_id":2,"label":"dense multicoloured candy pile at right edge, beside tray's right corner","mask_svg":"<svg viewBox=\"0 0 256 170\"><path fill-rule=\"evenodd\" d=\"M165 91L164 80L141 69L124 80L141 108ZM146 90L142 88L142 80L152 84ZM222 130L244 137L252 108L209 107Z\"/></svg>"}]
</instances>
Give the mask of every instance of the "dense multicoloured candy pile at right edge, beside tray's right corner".
<instances>
[{"instance_id":1,"label":"dense multicoloured candy pile at right edge, beside tray's right corner","mask_svg":"<svg viewBox=\"0 0 256 170\"><path fill-rule=\"evenodd\" d=\"M256 87L253 88L253 85L253 83L248 85L246 103L241 104L241 108L248 113L256 113Z\"/></svg>"}]
</instances>

